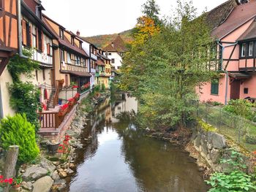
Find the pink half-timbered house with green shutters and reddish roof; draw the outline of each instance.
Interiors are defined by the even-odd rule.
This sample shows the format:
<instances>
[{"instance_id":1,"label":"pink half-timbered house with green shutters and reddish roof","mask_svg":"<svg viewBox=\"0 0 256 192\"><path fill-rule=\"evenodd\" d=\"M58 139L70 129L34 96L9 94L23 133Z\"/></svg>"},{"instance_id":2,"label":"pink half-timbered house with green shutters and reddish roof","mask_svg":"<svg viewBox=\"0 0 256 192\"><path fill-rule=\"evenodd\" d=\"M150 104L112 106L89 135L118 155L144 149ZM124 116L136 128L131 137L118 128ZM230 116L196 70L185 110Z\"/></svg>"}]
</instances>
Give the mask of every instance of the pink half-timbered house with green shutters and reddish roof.
<instances>
[{"instance_id":1,"label":"pink half-timbered house with green shutters and reddish roof","mask_svg":"<svg viewBox=\"0 0 256 192\"><path fill-rule=\"evenodd\" d=\"M221 77L197 88L200 101L256 99L256 1L226 1L208 12Z\"/></svg>"}]
</instances>

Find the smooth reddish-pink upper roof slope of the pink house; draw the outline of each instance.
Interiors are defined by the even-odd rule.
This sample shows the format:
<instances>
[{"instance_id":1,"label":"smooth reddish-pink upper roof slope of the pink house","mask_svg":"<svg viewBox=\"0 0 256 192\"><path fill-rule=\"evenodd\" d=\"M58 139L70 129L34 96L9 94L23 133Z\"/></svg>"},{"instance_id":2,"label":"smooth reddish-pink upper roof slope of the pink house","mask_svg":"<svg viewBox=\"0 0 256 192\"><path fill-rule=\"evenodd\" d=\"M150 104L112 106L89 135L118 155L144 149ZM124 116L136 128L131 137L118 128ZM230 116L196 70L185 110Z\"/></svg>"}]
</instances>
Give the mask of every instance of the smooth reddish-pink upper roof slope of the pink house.
<instances>
[{"instance_id":1,"label":"smooth reddish-pink upper roof slope of the pink house","mask_svg":"<svg viewBox=\"0 0 256 192\"><path fill-rule=\"evenodd\" d=\"M212 37L222 39L233 30L243 25L256 15L256 1L234 7L224 23L211 32Z\"/></svg>"}]
</instances>

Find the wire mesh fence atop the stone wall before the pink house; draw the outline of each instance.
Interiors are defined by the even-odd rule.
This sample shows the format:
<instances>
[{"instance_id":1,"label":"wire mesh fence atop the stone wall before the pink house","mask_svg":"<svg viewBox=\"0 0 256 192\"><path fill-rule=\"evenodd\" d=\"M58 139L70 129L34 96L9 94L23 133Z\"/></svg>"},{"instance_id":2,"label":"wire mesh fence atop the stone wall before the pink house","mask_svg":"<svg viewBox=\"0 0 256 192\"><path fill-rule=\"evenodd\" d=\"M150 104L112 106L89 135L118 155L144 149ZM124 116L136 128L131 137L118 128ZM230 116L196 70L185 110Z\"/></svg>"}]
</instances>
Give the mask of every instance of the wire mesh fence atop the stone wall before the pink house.
<instances>
[{"instance_id":1,"label":"wire mesh fence atop the stone wall before the pink house","mask_svg":"<svg viewBox=\"0 0 256 192\"><path fill-rule=\"evenodd\" d=\"M197 104L197 117L249 151L256 150L256 123L225 112L221 107Z\"/></svg>"}]
</instances>

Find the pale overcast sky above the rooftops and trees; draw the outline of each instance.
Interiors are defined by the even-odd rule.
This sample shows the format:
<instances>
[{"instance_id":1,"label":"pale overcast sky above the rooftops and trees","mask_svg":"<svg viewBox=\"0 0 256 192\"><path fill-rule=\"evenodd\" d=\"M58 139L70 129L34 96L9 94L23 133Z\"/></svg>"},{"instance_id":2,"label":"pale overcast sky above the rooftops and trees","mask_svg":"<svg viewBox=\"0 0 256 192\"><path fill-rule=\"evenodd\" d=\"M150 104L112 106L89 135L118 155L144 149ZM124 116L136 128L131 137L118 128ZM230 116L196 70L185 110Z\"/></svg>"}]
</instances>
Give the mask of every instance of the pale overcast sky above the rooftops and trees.
<instances>
[{"instance_id":1,"label":"pale overcast sky above the rooftops and trees","mask_svg":"<svg viewBox=\"0 0 256 192\"><path fill-rule=\"evenodd\" d=\"M176 0L156 0L162 15L172 15ZM197 12L217 7L226 0L192 0ZM42 0L45 14L81 36L114 34L135 26L146 0Z\"/></svg>"}]
</instances>

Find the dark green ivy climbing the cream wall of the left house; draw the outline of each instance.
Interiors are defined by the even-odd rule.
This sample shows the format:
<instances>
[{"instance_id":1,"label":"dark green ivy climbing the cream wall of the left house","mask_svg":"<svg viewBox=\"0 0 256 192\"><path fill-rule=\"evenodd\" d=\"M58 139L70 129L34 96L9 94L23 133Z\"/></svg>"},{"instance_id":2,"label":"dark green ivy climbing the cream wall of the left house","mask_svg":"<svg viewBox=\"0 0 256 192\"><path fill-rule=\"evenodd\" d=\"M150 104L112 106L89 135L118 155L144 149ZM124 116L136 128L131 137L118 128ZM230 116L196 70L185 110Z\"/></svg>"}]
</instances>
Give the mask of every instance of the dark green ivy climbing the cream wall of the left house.
<instances>
[{"instance_id":1,"label":"dark green ivy climbing the cream wall of the left house","mask_svg":"<svg viewBox=\"0 0 256 192\"><path fill-rule=\"evenodd\" d=\"M40 93L32 82L23 82L20 80L20 74L25 74L28 78L32 77L31 72L39 69L39 62L31 59L33 50L24 49L23 54L28 58L20 58L16 54L10 59L7 65L13 81L12 84L8 83L11 93L10 105L16 112L20 114L25 113L29 122L34 124L37 131L39 129L37 109L40 107Z\"/></svg>"}]
</instances>

